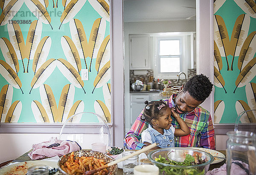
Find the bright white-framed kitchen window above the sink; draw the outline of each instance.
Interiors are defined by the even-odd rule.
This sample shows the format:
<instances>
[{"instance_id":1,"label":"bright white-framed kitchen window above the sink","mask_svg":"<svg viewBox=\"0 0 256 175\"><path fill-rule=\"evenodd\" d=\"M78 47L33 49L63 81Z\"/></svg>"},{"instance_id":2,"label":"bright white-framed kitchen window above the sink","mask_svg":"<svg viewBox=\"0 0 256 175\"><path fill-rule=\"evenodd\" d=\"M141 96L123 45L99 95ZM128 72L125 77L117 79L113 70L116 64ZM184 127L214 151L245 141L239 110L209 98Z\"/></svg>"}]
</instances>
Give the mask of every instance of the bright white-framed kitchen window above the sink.
<instances>
[{"instance_id":1,"label":"bright white-framed kitchen window above the sink","mask_svg":"<svg viewBox=\"0 0 256 175\"><path fill-rule=\"evenodd\" d=\"M177 79L179 72L187 74L194 65L194 32L163 32L150 34L154 77Z\"/></svg>"}]
</instances>

